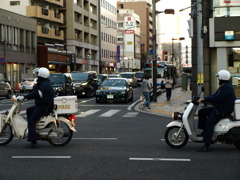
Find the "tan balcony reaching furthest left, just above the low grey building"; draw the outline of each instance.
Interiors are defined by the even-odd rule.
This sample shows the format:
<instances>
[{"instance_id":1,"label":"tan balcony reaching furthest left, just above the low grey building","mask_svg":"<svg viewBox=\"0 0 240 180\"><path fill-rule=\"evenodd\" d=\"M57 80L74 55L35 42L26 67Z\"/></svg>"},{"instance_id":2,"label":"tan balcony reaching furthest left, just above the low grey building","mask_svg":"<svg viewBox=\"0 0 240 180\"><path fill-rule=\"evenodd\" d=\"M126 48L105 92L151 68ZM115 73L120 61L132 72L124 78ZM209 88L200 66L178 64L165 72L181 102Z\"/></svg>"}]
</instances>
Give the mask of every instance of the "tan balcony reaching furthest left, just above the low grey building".
<instances>
[{"instance_id":1,"label":"tan balcony reaching furthest left, just above the low grey building","mask_svg":"<svg viewBox=\"0 0 240 180\"><path fill-rule=\"evenodd\" d=\"M35 17L50 20L50 13L48 9L44 9L38 6L27 6L27 14L28 17Z\"/></svg>"}]
</instances>

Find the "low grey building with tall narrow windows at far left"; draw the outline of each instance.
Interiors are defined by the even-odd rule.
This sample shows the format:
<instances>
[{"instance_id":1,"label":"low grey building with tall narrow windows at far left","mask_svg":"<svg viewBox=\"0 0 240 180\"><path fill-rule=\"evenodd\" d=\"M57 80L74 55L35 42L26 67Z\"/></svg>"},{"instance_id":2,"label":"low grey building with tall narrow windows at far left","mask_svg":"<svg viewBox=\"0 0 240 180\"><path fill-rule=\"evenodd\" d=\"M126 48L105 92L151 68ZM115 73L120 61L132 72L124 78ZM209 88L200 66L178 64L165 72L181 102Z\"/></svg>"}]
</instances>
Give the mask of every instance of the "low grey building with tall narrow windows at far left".
<instances>
[{"instance_id":1,"label":"low grey building with tall narrow windows at far left","mask_svg":"<svg viewBox=\"0 0 240 180\"><path fill-rule=\"evenodd\" d=\"M37 21L0 9L0 73L13 89L37 66Z\"/></svg>"}]
</instances>

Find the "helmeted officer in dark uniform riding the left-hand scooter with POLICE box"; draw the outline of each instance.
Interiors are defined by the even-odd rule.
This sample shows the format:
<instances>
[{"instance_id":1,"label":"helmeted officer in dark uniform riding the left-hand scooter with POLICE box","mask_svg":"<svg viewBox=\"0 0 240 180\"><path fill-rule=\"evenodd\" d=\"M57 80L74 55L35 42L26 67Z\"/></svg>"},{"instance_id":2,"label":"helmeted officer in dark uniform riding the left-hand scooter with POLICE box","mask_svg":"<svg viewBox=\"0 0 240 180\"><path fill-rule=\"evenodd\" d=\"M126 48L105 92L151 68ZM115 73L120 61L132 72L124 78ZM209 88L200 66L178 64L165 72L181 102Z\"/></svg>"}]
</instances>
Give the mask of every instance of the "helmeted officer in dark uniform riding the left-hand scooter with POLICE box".
<instances>
[{"instance_id":1,"label":"helmeted officer in dark uniform riding the left-hand scooter with POLICE box","mask_svg":"<svg viewBox=\"0 0 240 180\"><path fill-rule=\"evenodd\" d=\"M48 80L50 72L47 68L41 67L33 70L37 75L37 84L34 85L33 91L24 96L25 99L35 99L35 106L27 109L28 120L28 138L31 143L26 148L38 148L36 137L36 122L44 115L48 115L53 109L53 98L55 92Z\"/></svg>"}]
</instances>

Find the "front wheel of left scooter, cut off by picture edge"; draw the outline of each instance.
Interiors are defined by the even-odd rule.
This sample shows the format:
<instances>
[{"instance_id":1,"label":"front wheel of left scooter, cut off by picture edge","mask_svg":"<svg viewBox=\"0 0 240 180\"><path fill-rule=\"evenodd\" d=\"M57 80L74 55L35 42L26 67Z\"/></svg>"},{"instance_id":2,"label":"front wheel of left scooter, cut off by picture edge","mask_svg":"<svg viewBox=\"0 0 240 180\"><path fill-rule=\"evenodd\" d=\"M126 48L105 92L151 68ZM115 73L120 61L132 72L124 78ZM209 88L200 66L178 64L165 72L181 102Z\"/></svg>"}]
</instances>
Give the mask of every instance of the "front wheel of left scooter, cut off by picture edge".
<instances>
[{"instance_id":1,"label":"front wheel of left scooter, cut off by picture edge","mask_svg":"<svg viewBox=\"0 0 240 180\"><path fill-rule=\"evenodd\" d=\"M0 146L10 143L13 139L12 127L10 124L5 124L0 133Z\"/></svg>"}]
</instances>

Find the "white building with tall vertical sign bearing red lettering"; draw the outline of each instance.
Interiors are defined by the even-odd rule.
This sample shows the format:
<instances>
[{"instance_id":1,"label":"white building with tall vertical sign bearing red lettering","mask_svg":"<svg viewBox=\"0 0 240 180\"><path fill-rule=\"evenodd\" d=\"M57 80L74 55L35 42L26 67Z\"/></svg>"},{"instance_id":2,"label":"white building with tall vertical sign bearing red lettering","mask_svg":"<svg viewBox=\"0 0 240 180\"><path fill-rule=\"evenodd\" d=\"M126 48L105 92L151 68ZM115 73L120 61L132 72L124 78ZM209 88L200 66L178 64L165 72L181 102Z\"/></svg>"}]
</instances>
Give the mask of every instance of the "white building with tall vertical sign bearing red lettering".
<instances>
[{"instance_id":1,"label":"white building with tall vertical sign bearing red lettering","mask_svg":"<svg viewBox=\"0 0 240 180\"><path fill-rule=\"evenodd\" d=\"M141 22L134 10L118 10L117 44L120 46L120 71L141 70Z\"/></svg>"}]
</instances>

